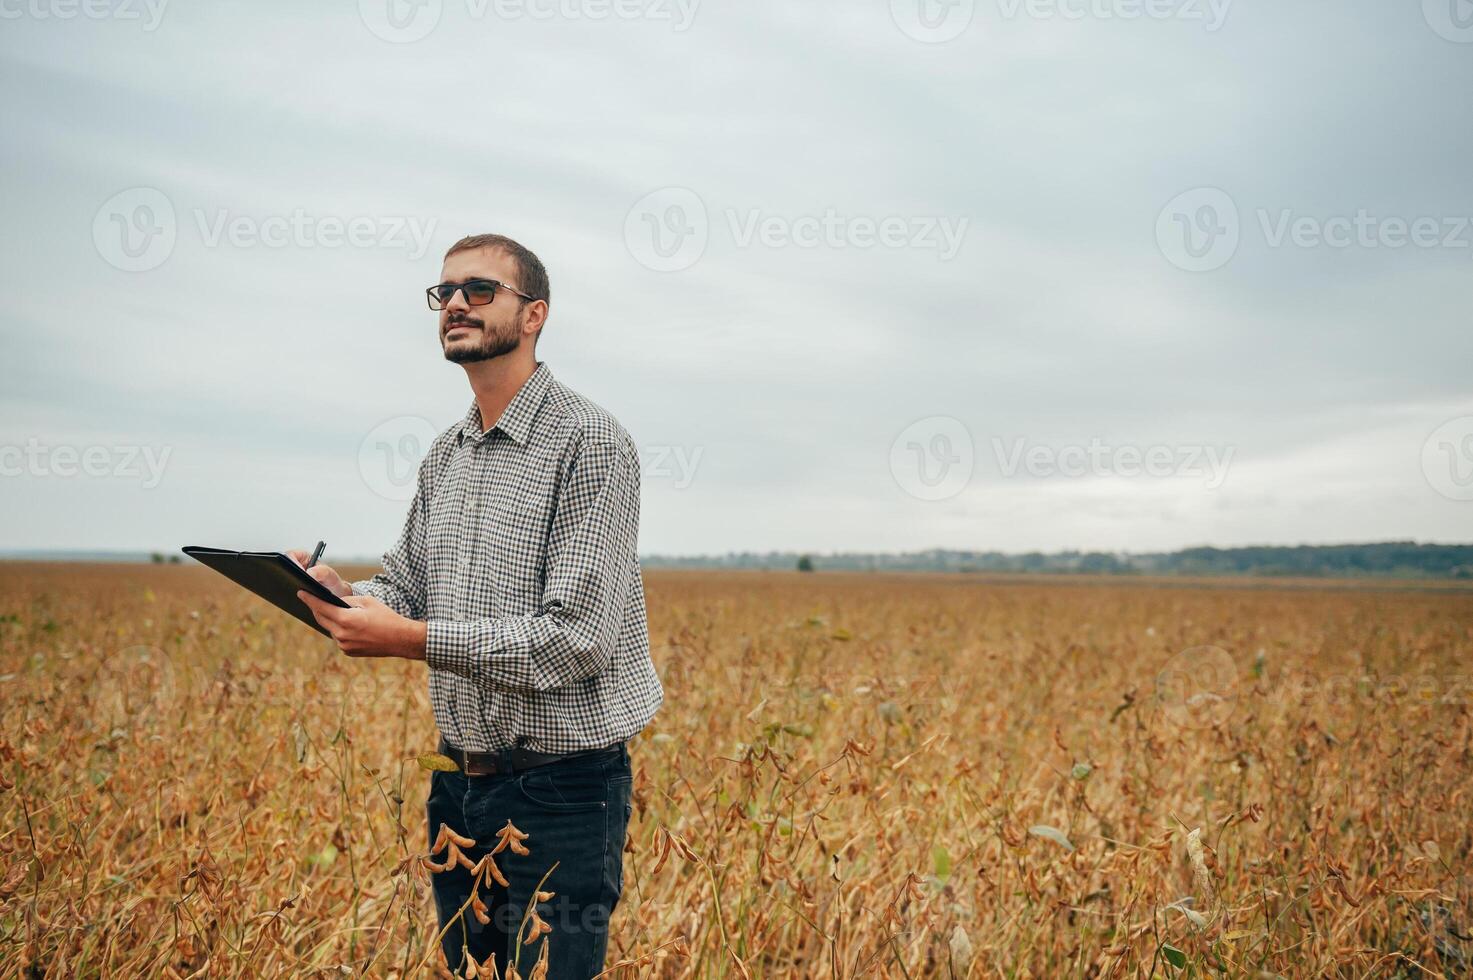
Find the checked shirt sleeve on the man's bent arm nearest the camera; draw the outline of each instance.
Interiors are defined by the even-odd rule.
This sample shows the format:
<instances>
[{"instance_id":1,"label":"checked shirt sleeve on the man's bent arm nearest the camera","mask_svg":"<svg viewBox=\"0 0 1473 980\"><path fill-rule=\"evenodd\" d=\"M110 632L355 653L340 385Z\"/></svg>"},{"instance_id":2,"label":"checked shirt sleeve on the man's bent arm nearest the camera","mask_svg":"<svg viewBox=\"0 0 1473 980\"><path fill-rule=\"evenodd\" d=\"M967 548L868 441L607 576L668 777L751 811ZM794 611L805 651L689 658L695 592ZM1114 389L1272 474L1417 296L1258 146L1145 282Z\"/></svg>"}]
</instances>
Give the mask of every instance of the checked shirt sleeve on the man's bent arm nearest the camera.
<instances>
[{"instance_id":1,"label":"checked shirt sleeve on the man's bent arm nearest the camera","mask_svg":"<svg viewBox=\"0 0 1473 980\"><path fill-rule=\"evenodd\" d=\"M638 569L638 454L627 439L585 438L564 479L538 612L430 619L429 666L507 691L551 691L608 668Z\"/></svg>"}]
</instances>

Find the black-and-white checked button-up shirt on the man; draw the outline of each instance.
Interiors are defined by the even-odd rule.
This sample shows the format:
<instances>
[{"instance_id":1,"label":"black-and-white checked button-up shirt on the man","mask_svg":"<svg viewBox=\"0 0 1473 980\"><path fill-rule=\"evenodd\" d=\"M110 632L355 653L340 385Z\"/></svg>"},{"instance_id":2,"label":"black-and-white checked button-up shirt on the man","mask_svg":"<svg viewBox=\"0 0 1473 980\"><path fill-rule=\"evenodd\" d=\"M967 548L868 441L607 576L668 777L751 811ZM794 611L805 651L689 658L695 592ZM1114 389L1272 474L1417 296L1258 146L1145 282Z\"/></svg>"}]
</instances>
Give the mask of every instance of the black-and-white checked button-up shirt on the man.
<instances>
[{"instance_id":1,"label":"black-and-white checked button-up shirt on the man","mask_svg":"<svg viewBox=\"0 0 1473 980\"><path fill-rule=\"evenodd\" d=\"M452 746L597 749L664 691L639 578L639 457L546 364L482 432L474 399L420 464L383 572L354 582L427 620L430 704Z\"/></svg>"}]
</instances>

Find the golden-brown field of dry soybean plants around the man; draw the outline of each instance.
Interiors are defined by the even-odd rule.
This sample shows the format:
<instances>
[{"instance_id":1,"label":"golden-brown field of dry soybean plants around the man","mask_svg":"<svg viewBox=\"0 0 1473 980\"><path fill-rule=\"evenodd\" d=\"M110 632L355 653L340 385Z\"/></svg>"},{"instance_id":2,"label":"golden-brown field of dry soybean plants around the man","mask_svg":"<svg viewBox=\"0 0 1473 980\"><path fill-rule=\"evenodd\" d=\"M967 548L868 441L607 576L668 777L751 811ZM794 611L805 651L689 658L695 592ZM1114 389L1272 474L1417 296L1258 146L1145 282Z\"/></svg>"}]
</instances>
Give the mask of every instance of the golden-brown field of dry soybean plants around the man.
<instances>
[{"instance_id":1,"label":"golden-brown field of dry soybean plants around the man","mask_svg":"<svg viewBox=\"0 0 1473 980\"><path fill-rule=\"evenodd\" d=\"M1473 971L1467 589L647 588L608 977ZM202 569L0 566L0 977L442 971L427 875L498 871L426 827L423 671Z\"/></svg>"}]
</instances>

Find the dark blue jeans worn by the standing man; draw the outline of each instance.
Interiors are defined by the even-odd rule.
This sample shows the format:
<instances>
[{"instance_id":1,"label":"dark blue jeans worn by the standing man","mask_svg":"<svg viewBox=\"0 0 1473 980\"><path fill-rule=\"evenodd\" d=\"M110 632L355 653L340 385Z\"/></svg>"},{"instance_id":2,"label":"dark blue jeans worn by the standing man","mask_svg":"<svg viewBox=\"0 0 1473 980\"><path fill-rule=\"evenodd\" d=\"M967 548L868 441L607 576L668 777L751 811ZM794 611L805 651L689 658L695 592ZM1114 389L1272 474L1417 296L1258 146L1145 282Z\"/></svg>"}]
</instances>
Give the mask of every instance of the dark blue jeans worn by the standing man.
<instances>
[{"instance_id":1,"label":"dark blue jeans worn by the standing man","mask_svg":"<svg viewBox=\"0 0 1473 980\"><path fill-rule=\"evenodd\" d=\"M476 962L493 958L498 976L505 974L507 962L517 959L516 937L527 903L554 864L557 868L542 886L544 892L554 893L552 899L536 906L542 921L552 927L544 937L548 943L548 977L588 980L604 970L608 917L625 884L630 785L629 749L623 743L510 775L430 774L430 799L424 809L432 844L440 824L448 824L476 841L465 852L474 864L495 849L496 831L508 819L529 834L521 841L529 855L517 855L507 847L493 858L511 883L510 889L495 881L489 883L489 889L476 886L489 906L488 925L470 908L461 914L471 892L471 875L465 868L430 875L439 928L451 923L442 946L452 971L463 971L463 956L468 952ZM544 939L521 946L517 967L521 976L530 973Z\"/></svg>"}]
</instances>

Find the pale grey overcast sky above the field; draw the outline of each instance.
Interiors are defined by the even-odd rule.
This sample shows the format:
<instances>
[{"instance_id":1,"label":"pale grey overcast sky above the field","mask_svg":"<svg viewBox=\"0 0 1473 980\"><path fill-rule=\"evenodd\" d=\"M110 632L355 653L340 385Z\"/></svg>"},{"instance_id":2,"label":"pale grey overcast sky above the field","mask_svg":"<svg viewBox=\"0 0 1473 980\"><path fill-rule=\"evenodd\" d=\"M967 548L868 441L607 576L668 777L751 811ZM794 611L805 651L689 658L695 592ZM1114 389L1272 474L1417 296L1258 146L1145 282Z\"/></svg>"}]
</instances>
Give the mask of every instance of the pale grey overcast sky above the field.
<instances>
[{"instance_id":1,"label":"pale grey overcast sky above the field","mask_svg":"<svg viewBox=\"0 0 1473 980\"><path fill-rule=\"evenodd\" d=\"M480 231L647 554L1473 539L1467 0L0 18L0 548L377 556Z\"/></svg>"}]
</instances>

